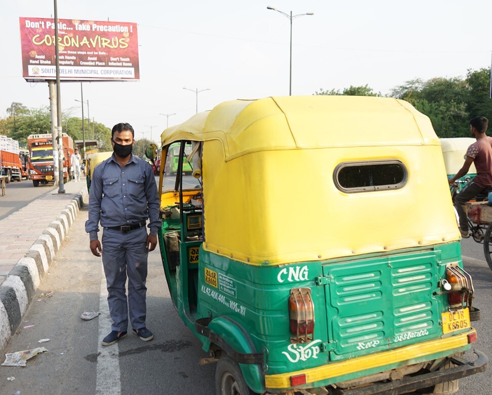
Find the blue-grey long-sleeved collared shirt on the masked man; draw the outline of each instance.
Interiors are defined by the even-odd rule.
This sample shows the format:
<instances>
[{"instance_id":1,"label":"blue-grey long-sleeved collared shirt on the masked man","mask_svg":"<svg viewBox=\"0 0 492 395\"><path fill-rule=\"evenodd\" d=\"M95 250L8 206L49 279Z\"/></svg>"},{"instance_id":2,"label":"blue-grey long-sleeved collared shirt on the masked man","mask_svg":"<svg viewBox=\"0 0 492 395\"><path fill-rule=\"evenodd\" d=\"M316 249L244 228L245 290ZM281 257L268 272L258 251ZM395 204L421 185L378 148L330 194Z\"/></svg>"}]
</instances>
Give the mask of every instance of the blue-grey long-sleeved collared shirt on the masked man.
<instances>
[{"instance_id":1,"label":"blue-grey long-sleeved collared shirt on the masked man","mask_svg":"<svg viewBox=\"0 0 492 395\"><path fill-rule=\"evenodd\" d=\"M121 167L114 157L101 162L92 174L89 219L86 232L97 240L98 224L103 228L137 224L150 219L151 235L162 226L160 201L150 165L132 155Z\"/></svg>"}]
</instances>

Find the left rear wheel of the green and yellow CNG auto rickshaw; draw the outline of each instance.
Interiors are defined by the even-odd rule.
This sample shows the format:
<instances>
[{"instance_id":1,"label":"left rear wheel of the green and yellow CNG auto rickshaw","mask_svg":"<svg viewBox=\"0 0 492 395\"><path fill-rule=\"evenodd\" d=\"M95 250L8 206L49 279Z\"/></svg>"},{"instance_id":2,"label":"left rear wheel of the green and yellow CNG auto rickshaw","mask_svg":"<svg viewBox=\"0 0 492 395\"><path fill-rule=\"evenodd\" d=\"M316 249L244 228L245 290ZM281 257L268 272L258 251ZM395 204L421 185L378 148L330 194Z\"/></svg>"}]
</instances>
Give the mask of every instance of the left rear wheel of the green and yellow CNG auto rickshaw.
<instances>
[{"instance_id":1,"label":"left rear wheel of the green and yellow CNG auto rickshaw","mask_svg":"<svg viewBox=\"0 0 492 395\"><path fill-rule=\"evenodd\" d=\"M237 362L223 353L215 370L215 391L217 395L254 395L242 377Z\"/></svg>"}]
</instances>

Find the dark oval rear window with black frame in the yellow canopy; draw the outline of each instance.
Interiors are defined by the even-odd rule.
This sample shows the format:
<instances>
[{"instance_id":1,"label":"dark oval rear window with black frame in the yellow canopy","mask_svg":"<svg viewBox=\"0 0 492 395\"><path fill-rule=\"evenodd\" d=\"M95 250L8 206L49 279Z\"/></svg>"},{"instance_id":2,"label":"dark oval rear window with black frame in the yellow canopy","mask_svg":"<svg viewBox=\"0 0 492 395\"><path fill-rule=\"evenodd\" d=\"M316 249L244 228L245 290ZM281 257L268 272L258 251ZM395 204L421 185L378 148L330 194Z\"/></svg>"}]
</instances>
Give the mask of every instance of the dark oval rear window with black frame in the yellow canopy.
<instances>
[{"instance_id":1,"label":"dark oval rear window with black frame in the yellow canopy","mask_svg":"<svg viewBox=\"0 0 492 395\"><path fill-rule=\"evenodd\" d=\"M342 192L368 192L398 189L406 184L408 173L399 160L344 162L333 174Z\"/></svg>"}]
</instances>

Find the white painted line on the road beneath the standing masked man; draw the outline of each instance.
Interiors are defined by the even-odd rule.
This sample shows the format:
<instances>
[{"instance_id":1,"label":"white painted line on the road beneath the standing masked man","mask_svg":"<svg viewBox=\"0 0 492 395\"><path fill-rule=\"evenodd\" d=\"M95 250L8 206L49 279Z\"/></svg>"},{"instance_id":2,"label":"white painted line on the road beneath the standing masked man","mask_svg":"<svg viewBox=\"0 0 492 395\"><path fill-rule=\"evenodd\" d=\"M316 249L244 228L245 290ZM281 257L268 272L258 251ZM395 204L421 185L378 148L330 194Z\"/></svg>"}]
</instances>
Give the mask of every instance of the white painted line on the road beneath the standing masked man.
<instances>
[{"instance_id":1,"label":"white painted line on the road beneath the standing masked man","mask_svg":"<svg viewBox=\"0 0 492 395\"><path fill-rule=\"evenodd\" d=\"M111 318L109 316L108 291L106 289L106 276L101 263L102 279L101 293L99 296L99 340L97 346L96 367L96 395L120 395L121 380L119 372L118 343L111 346L103 346L101 342L111 332Z\"/></svg>"}]
</instances>

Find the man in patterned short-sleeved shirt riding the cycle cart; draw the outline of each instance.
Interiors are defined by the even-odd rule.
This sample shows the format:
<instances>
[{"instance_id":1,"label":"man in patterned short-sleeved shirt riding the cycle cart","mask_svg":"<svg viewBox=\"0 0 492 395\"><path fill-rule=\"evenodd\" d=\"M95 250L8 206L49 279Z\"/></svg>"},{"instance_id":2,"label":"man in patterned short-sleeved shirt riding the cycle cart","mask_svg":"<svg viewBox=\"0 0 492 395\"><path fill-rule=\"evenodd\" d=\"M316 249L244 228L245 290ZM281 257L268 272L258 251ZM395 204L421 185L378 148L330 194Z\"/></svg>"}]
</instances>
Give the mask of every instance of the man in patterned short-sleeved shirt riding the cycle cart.
<instances>
[{"instance_id":1,"label":"man in patterned short-sleeved shirt riding the cycle cart","mask_svg":"<svg viewBox=\"0 0 492 395\"><path fill-rule=\"evenodd\" d=\"M475 117L470 120L470 131L477 141L468 147L463 167L453 178L449 179L449 184L454 184L458 178L463 177L468 172L471 164L475 163L476 177L455 198L456 210L460 217L460 232L463 238L470 237L465 203L492 185L492 137L485 134L487 127L488 120L485 117Z\"/></svg>"}]
</instances>

